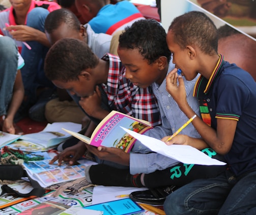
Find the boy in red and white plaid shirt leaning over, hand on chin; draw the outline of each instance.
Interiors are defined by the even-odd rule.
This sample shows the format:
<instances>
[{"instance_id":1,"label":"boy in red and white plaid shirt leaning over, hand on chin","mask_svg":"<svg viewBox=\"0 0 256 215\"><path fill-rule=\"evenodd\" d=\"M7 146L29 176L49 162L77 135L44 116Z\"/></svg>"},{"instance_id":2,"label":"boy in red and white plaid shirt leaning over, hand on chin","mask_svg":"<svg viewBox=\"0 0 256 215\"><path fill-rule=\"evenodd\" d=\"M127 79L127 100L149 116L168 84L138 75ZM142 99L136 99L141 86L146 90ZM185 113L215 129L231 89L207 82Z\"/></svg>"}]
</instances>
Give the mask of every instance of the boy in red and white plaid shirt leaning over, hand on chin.
<instances>
[{"instance_id":1,"label":"boy in red and white plaid shirt leaning over, hand on chin","mask_svg":"<svg viewBox=\"0 0 256 215\"><path fill-rule=\"evenodd\" d=\"M152 126L160 124L158 105L151 88L139 88L128 80L118 56L106 54L99 59L85 42L61 39L47 53L45 74L57 87L67 89L73 97L77 97L77 103L84 112L96 120L90 125L91 133L96 123L110 110L148 121ZM101 93L106 95L105 106L109 106L108 110L101 106ZM90 137L91 133L87 131L85 135ZM80 141L72 149L72 160L77 160L86 151L86 146ZM65 159L70 159L71 154L65 155ZM54 160L59 157L61 164L63 154Z\"/></svg>"}]
</instances>

